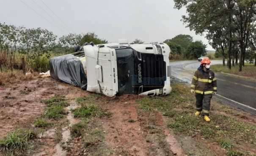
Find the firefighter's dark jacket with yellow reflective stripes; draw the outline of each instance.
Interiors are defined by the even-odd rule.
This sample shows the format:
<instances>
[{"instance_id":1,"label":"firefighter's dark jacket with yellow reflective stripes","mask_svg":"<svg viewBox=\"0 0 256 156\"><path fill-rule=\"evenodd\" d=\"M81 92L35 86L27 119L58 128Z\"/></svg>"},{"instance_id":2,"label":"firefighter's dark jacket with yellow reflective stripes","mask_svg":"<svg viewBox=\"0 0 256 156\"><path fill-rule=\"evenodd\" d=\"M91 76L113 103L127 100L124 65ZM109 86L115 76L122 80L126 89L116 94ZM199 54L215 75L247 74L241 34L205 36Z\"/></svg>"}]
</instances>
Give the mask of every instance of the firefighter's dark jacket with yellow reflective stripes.
<instances>
[{"instance_id":1,"label":"firefighter's dark jacket with yellow reflective stripes","mask_svg":"<svg viewBox=\"0 0 256 156\"><path fill-rule=\"evenodd\" d=\"M211 94L217 92L217 81L214 72L209 69L204 71L201 66L195 71L190 89L195 93Z\"/></svg>"}]
</instances>

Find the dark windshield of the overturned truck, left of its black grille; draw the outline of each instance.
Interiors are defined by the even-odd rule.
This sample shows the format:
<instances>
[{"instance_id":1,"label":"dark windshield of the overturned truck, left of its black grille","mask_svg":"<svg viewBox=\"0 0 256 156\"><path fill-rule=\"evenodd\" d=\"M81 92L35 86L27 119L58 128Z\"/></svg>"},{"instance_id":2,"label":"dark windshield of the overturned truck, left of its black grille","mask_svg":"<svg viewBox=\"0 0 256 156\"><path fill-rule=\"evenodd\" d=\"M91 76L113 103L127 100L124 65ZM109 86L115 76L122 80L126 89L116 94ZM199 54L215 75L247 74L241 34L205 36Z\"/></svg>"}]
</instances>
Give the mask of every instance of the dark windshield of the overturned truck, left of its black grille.
<instances>
[{"instance_id":1,"label":"dark windshield of the overturned truck, left of its black grille","mask_svg":"<svg viewBox=\"0 0 256 156\"><path fill-rule=\"evenodd\" d=\"M135 93L132 86L134 75L134 52L132 48L116 49L118 95Z\"/></svg>"}]
</instances>

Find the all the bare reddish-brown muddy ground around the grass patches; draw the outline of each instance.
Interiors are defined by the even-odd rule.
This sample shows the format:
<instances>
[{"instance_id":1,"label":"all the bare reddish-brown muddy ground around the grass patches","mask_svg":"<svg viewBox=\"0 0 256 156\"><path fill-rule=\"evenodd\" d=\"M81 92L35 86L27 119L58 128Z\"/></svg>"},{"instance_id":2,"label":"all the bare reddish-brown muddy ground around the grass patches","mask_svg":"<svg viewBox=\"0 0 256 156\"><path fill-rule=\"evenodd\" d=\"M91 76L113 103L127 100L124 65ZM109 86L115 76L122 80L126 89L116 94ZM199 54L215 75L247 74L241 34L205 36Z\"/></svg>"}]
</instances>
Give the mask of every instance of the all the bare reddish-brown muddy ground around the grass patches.
<instances>
[{"instance_id":1,"label":"all the bare reddish-brown muddy ground around the grass patches","mask_svg":"<svg viewBox=\"0 0 256 156\"><path fill-rule=\"evenodd\" d=\"M55 95L62 95L69 99L70 104L74 104L75 98L90 94L79 87L74 87L62 82L58 82L50 77L33 79L26 82L17 82L16 85L0 86L0 139L14 129L31 129L33 122L44 114L46 104L42 102ZM100 102L100 107L112 112L109 118L92 118L92 123L99 123L104 132L104 142L112 151L106 155L117 156L188 156L186 151L200 151L201 146L207 146L209 156L225 156L225 149L217 145L216 142L208 142L199 136L191 136L184 140L183 136L176 136L166 125L166 117L157 111L145 111L138 109L137 95L124 95L115 99L101 96L104 100ZM75 107L75 106L74 106ZM214 111L214 109L212 110ZM68 112L68 108L67 108ZM226 112L215 112L228 115ZM239 120L256 124L255 116L242 113ZM127 122L128 120L134 122ZM65 120L52 121L55 126L44 129L45 132L30 143L33 149L29 156L78 156L90 155L83 146L81 138L70 139L70 123L77 123L79 119L74 119L67 115ZM61 123L58 123L61 122ZM154 131L149 125L154 125ZM148 134L161 134L164 139L148 137ZM62 136L56 138L56 135ZM160 138L158 136L158 138ZM160 141L159 141L160 140ZM69 151L61 148L60 142L69 142ZM162 145L159 143L162 142ZM183 142L183 143L182 143ZM186 142L186 143L184 143ZM183 146L182 146L183 144ZM185 145L185 147L184 147ZM33 147L36 146L36 147ZM242 146L242 145L241 145ZM243 149L246 147L242 147ZM250 153L256 154L256 150L248 147ZM246 150L246 149L245 149ZM3 153L0 153L2 156Z\"/></svg>"}]
</instances>

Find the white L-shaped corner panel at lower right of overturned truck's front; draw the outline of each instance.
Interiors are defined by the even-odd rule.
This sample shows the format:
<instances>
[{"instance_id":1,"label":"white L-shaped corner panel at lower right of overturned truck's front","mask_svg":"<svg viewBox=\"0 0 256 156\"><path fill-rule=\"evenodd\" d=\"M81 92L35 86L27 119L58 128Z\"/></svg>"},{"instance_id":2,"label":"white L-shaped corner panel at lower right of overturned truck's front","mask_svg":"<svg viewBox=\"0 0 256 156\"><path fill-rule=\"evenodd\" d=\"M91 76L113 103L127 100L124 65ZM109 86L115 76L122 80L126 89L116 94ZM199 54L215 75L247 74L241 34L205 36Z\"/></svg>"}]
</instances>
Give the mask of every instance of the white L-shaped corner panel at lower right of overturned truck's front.
<instances>
[{"instance_id":1,"label":"white L-shaped corner panel at lower right of overturned truck's front","mask_svg":"<svg viewBox=\"0 0 256 156\"><path fill-rule=\"evenodd\" d=\"M170 84L170 77L167 77L166 81L165 81L165 86L163 88L149 90L149 91L140 93L139 95L142 95L142 96L167 95L167 94L171 93L171 90L172 90L172 88L171 88L171 84Z\"/></svg>"}]
</instances>

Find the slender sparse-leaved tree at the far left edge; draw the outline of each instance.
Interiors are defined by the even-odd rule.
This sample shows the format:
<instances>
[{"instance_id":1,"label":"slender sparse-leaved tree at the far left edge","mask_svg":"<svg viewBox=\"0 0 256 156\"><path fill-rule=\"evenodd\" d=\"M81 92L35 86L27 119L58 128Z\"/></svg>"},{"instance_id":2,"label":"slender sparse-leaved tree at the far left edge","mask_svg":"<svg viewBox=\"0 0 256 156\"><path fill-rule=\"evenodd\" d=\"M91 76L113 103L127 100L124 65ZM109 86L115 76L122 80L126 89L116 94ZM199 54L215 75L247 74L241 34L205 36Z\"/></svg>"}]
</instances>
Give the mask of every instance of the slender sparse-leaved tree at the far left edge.
<instances>
[{"instance_id":1,"label":"slender sparse-leaved tree at the far left edge","mask_svg":"<svg viewBox=\"0 0 256 156\"><path fill-rule=\"evenodd\" d=\"M24 27L16 27L14 25L6 25L0 23L0 49L7 56L13 71L13 62L19 49L19 42L22 37Z\"/></svg>"}]
</instances>

